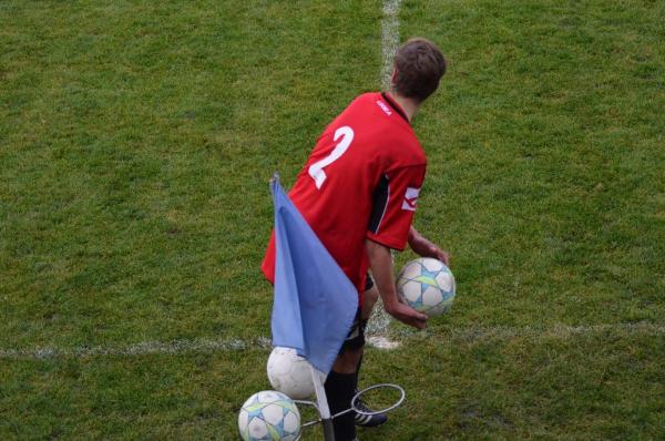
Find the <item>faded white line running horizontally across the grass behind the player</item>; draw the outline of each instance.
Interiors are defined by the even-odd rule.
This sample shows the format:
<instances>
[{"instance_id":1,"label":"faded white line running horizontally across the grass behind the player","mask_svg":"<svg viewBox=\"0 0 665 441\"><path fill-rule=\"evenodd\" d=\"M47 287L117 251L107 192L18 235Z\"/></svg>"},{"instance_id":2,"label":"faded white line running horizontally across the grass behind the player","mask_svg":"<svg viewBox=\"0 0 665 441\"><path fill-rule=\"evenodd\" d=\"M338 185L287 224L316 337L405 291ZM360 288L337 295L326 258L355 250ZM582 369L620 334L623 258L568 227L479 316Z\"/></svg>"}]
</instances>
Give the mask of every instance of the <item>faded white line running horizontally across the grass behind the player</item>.
<instances>
[{"instance_id":1,"label":"faded white line running horizontally across the grass behind the player","mask_svg":"<svg viewBox=\"0 0 665 441\"><path fill-rule=\"evenodd\" d=\"M603 334L616 337L632 336L665 336L665 324L613 324L590 326L555 325L549 328L536 327L488 327L488 328L449 328L438 334L436 338L446 342L481 342L481 341L509 341L518 338L528 339L575 339L580 337L595 337ZM403 332L402 340L410 338L429 338L427 331ZM378 337L379 339L382 337ZM432 337L434 338L434 337ZM386 341L389 341L386 339ZM79 348L42 347L33 349L0 349L0 359L4 360L49 360L57 358L85 358L85 357L137 357L151 355L182 355L182 353L219 353L228 351L268 350L270 339L258 337L248 340L241 339L213 339L200 338L193 340L143 341L127 346L95 346Z\"/></svg>"}]
</instances>

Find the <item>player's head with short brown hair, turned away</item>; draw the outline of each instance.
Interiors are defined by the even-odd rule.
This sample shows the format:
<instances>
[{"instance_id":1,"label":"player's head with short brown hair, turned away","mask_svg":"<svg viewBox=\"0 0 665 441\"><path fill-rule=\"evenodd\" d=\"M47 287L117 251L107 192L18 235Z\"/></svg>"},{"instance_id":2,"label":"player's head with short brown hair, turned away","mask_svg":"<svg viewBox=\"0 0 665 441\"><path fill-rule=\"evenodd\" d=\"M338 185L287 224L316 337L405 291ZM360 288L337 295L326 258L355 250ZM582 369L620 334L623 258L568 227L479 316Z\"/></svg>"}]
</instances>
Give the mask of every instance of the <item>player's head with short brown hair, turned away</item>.
<instances>
[{"instance_id":1,"label":"player's head with short brown hair, turned away","mask_svg":"<svg viewBox=\"0 0 665 441\"><path fill-rule=\"evenodd\" d=\"M410 39L395 54L392 92L423 102L439 88L446 73L446 58L434 43L423 38Z\"/></svg>"}]
</instances>

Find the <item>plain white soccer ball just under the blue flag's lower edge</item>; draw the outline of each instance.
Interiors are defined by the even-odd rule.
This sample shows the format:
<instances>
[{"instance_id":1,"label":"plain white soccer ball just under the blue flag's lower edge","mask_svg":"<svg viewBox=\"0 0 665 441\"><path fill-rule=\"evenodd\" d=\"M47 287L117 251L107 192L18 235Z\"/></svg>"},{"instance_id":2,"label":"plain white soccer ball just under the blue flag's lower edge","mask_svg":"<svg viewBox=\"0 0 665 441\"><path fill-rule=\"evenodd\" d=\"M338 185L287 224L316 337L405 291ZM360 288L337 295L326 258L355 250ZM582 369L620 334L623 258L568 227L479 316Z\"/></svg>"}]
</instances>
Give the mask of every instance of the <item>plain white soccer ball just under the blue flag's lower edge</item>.
<instances>
[{"instance_id":1,"label":"plain white soccer ball just under the blue flag's lower edge","mask_svg":"<svg viewBox=\"0 0 665 441\"><path fill-rule=\"evenodd\" d=\"M273 349L267 370L270 386L291 399L301 400L314 394L309 362L299 357L295 349Z\"/></svg>"}]
</instances>

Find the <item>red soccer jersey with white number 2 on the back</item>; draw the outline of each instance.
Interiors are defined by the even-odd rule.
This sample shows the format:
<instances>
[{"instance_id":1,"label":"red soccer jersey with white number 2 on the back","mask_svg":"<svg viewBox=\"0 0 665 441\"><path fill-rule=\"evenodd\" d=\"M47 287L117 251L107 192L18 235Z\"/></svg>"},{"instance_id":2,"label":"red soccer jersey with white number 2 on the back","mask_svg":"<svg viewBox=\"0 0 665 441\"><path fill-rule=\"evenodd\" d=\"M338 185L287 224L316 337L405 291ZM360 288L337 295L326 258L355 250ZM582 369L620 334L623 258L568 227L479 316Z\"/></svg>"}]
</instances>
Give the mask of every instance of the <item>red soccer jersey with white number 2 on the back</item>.
<instances>
[{"instance_id":1,"label":"red soccer jersey with white number 2 on the back","mask_svg":"<svg viewBox=\"0 0 665 441\"><path fill-rule=\"evenodd\" d=\"M358 96L324 131L289 192L324 246L361 293L365 239L403 249L426 157L403 111L386 94ZM274 281L275 238L262 266Z\"/></svg>"}]
</instances>

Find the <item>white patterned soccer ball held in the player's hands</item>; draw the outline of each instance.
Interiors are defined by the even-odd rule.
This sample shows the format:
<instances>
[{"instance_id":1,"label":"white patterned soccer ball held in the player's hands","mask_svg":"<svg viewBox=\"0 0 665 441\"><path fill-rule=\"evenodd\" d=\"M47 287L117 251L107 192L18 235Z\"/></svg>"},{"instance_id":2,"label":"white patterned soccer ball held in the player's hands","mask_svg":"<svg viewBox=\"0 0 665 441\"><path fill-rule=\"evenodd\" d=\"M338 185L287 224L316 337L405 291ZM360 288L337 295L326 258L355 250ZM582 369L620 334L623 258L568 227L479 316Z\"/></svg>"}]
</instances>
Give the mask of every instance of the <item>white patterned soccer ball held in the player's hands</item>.
<instances>
[{"instance_id":1,"label":"white patterned soccer ball held in the player's hands","mask_svg":"<svg viewBox=\"0 0 665 441\"><path fill-rule=\"evenodd\" d=\"M433 258L409 261L397 276L397 293L411 308L428 317L448 311L454 299L454 277L450 269Z\"/></svg>"}]
</instances>

